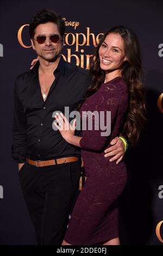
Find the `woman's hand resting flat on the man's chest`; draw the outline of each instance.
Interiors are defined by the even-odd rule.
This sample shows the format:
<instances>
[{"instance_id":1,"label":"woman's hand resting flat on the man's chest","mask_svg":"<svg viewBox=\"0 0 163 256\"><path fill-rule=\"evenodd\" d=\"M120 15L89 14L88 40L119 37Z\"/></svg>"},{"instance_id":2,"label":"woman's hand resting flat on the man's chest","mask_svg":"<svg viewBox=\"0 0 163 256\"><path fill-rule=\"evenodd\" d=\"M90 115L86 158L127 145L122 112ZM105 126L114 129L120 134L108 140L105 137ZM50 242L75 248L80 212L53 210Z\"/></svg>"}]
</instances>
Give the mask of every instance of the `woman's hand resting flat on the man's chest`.
<instances>
[{"instance_id":1,"label":"woman's hand resting flat on the man's chest","mask_svg":"<svg viewBox=\"0 0 163 256\"><path fill-rule=\"evenodd\" d=\"M74 136L74 132L76 130L76 119L73 120L73 124L71 125L64 114L56 113L55 119L57 123L54 122L54 125L58 128L61 133L61 136L67 141L70 142L71 138Z\"/></svg>"}]
</instances>

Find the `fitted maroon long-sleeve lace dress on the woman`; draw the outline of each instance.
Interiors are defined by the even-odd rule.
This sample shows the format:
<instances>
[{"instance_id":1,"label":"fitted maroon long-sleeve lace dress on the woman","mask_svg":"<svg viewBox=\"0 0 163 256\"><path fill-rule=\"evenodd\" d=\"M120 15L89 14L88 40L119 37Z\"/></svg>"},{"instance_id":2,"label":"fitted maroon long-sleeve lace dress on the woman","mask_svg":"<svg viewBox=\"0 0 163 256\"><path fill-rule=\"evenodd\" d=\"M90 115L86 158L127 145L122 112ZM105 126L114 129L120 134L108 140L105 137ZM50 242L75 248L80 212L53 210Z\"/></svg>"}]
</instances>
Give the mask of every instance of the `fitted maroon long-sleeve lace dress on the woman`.
<instances>
[{"instance_id":1,"label":"fitted maroon long-sleeve lace dress on the woman","mask_svg":"<svg viewBox=\"0 0 163 256\"><path fill-rule=\"evenodd\" d=\"M111 139L119 135L127 107L127 84L122 77L116 77L103 83L80 109L83 121L92 119L93 125L92 129L83 130L80 140L87 179L65 235L65 241L71 245L93 245L118 237L117 198L126 185L126 165L123 160L119 164L109 162L111 157L105 158L104 150L111 146ZM111 112L110 135L103 133L102 136L103 127L95 129L95 120L101 111L105 114L105 125L108 125L106 113Z\"/></svg>"}]
</instances>

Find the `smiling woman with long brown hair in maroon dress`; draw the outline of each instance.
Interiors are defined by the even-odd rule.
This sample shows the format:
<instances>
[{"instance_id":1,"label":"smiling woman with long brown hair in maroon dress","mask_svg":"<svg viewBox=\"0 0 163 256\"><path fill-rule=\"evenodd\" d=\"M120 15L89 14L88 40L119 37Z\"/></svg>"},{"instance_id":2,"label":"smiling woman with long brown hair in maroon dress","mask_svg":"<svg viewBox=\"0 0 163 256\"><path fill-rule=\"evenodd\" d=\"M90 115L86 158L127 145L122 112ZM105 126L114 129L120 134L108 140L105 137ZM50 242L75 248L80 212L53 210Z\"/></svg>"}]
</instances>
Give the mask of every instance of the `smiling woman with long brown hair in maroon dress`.
<instances>
[{"instance_id":1,"label":"smiling woman with long brown hair in maroon dress","mask_svg":"<svg viewBox=\"0 0 163 256\"><path fill-rule=\"evenodd\" d=\"M55 116L62 137L82 148L87 180L74 206L62 245L120 245L118 238L117 199L126 185L124 161L118 165L104 158L104 149L120 133L121 125L131 145L136 145L145 121L145 96L140 82L142 71L140 46L131 29L117 26L107 31L97 46L96 59L90 69L93 82L80 108L83 121L93 115L93 130L83 137L74 135L64 115ZM96 112L95 112L96 111ZM95 129L98 114L111 111L111 134L102 136ZM93 113L94 112L94 113Z\"/></svg>"}]
</instances>

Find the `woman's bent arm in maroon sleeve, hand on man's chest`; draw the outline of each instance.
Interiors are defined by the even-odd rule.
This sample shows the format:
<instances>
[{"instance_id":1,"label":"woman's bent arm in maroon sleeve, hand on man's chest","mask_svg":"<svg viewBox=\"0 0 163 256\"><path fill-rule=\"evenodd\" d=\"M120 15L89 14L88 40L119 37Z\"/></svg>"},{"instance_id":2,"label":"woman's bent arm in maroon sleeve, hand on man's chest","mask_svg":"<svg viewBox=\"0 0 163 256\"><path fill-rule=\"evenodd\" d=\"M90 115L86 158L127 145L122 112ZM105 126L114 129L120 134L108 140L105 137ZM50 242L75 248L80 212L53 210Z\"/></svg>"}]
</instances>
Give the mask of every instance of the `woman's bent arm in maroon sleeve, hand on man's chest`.
<instances>
[{"instance_id":1,"label":"woman's bent arm in maroon sleeve, hand on man's chest","mask_svg":"<svg viewBox=\"0 0 163 256\"><path fill-rule=\"evenodd\" d=\"M58 122L58 124L55 123L55 126L58 128L62 137L68 143L71 143L83 149L93 151L104 150L105 144L108 141L110 133L104 132L102 128L105 125L106 130L108 130L108 127L112 125L112 123L114 122L118 110L118 104L120 103L119 97L120 96L117 87L113 87L112 85L110 85L109 88L104 88L103 92L101 92L99 95L99 99L97 100L97 106L95 106L97 111L96 113L93 112L95 118L92 118L92 129L87 129L83 137L74 136L76 120L73 121L73 125L70 125L70 123L68 123L68 120L62 113L60 115L58 113L57 115L55 115L55 118ZM110 120L108 118L109 111L111 112ZM99 118L98 115L102 112L103 117L100 117L100 119L98 119L98 129L95 129L96 115L97 118Z\"/></svg>"}]
</instances>

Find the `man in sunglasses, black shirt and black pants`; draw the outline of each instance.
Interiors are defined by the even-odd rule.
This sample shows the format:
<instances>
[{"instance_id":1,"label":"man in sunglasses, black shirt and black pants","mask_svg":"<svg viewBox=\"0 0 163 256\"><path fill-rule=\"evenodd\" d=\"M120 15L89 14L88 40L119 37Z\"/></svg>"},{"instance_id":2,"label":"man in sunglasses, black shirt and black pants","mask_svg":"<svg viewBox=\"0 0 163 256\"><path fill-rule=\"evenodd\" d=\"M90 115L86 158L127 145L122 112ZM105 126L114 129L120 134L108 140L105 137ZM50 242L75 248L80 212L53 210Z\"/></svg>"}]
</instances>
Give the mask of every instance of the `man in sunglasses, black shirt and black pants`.
<instances>
[{"instance_id":1,"label":"man in sunglasses, black shirt and black pants","mask_svg":"<svg viewBox=\"0 0 163 256\"><path fill-rule=\"evenodd\" d=\"M80 178L80 150L52 129L54 111L70 112L83 101L91 83L87 71L61 57L65 25L52 10L38 11L30 21L33 49L39 56L33 70L16 78L12 156L24 199L34 223L37 243L60 245ZM107 151L123 157L115 138ZM106 157L109 156L106 154Z\"/></svg>"}]
</instances>

